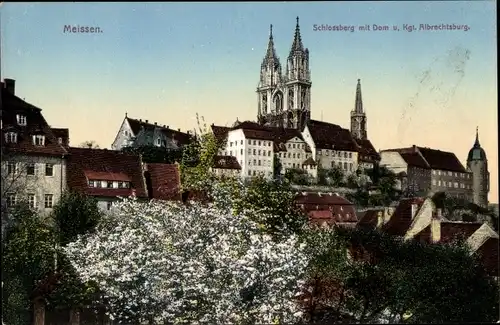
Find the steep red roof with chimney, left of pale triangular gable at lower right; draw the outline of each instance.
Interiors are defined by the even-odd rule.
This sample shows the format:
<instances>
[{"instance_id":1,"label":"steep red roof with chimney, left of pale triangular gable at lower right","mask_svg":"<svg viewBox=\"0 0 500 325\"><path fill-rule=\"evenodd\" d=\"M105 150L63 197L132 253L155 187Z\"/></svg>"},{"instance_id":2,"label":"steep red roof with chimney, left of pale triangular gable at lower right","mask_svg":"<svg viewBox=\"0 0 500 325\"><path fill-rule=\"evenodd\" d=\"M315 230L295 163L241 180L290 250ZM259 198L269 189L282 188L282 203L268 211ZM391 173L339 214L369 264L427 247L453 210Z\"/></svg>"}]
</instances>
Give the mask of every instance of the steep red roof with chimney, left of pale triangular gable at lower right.
<instances>
[{"instance_id":1,"label":"steep red roof with chimney, left of pale triangular gable at lower right","mask_svg":"<svg viewBox=\"0 0 500 325\"><path fill-rule=\"evenodd\" d=\"M382 226L382 230L391 235L404 236L413 221L411 211L412 205L417 205L415 213L418 213L418 209L420 209L424 201L425 198L420 197L400 200L391 219Z\"/></svg>"}]
</instances>

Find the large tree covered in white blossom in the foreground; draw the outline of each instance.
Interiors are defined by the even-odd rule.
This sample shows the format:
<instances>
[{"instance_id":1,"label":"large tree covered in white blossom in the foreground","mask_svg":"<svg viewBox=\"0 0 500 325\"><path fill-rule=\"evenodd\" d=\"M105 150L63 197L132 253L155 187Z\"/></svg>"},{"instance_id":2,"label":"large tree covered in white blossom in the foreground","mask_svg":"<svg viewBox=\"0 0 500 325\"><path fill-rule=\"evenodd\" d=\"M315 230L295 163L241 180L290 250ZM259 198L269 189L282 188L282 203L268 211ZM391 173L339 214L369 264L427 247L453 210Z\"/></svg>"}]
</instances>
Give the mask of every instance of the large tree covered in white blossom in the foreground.
<instances>
[{"instance_id":1,"label":"large tree covered in white blossom in the foreground","mask_svg":"<svg viewBox=\"0 0 500 325\"><path fill-rule=\"evenodd\" d=\"M226 208L124 200L106 227L65 247L113 317L133 322L293 322L307 256Z\"/></svg>"}]
</instances>

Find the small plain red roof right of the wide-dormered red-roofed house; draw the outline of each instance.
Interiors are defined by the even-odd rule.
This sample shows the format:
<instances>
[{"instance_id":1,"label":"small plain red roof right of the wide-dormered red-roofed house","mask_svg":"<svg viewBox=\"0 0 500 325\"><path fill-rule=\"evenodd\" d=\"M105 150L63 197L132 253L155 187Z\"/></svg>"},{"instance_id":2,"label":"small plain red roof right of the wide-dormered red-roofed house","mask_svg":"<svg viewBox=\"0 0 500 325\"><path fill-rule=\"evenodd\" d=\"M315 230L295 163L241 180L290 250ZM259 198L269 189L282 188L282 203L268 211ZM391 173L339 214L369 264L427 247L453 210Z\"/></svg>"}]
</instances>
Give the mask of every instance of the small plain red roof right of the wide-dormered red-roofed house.
<instances>
[{"instance_id":1,"label":"small plain red roof right of the wide-dormered red-roofed house","mask_svg":"<svg viewBox=\"0 0 500 325\"><path fill-rule=\"evenodd\" d=\"M146 183L151 199L181 200L181 177L176 164L146 164Z\"/></svg>"}]
</instances>

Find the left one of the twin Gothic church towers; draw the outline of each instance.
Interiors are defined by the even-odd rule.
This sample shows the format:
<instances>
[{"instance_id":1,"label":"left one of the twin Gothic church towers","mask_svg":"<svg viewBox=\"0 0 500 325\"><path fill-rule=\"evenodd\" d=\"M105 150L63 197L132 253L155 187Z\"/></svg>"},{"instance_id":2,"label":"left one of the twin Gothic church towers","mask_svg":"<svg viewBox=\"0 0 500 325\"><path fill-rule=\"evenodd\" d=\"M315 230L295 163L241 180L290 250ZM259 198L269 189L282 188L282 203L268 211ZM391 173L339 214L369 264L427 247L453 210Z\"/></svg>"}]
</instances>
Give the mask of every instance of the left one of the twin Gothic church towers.
<instances>
[{"instance_id":1,"label":"left one of the twin Gothic church towers","mask_svg":"<svg viewBox=\"0 0 500 325\"><path fill-rule=\"evenodd\" d=\"M283 113L284 106L282 85L281 63L274 48L273 25L271 25L266 55L260 65L260 80L257 87L257 118L260 123L273 126L280 124L278 118Z\"/></svg>"}]
</instances>

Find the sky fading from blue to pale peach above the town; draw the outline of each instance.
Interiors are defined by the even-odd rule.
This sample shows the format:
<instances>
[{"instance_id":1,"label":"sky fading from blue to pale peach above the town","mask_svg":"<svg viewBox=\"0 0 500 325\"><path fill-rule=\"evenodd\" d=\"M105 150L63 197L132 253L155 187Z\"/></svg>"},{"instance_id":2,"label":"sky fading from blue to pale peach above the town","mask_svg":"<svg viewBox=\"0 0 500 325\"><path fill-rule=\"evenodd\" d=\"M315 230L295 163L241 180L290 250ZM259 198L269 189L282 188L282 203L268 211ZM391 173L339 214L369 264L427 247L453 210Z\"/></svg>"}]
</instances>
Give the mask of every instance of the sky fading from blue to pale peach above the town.
<instances>
[{"instance_id":1,"label":"sky fading from blue to pale peach above the town","mask_svg":"<svg viewBox=\"0 0 500 325\"><path fill-rule=\"evenodd\" d=\"M16 95L53 127L68 127L75 146L109 148L126 113L183 131L197 128L197 113L231 125L256 118L269 25L284 63L297 16L312 118L349 127L361 79L377 149L415 144L465 164L478 127L498 202L495 1L4 3L1 77L15 79ZM322 24L355 31L315 30ZM66 25L100 32L65 33Z\"/></svg>"}]
</instances>

